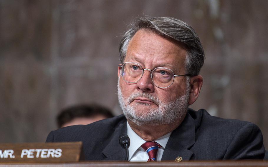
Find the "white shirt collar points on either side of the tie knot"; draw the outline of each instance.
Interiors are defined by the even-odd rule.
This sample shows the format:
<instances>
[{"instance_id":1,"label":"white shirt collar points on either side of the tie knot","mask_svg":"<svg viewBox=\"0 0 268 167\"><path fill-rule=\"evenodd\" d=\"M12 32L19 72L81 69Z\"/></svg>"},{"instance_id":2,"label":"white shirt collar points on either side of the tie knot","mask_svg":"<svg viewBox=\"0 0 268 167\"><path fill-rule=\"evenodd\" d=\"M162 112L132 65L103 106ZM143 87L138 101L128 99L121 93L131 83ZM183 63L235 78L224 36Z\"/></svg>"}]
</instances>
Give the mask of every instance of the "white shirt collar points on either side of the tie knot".
<instances>
[{"instance_id":1,"label":"white shirt collar points on either side of the tie knot","mask_svg":"<svg viewBox=\"0 0 268 167\"><path fill-rule=\"evenodd\" d=\"M138 148L140 148L140 146L145 143L146 141L143 140L142 138L140 138L140 136L137 135L137 133L135 133L132 128L130 127L130 125L127 122L127 130L128 130L128 137L130 138L130 146L128 148L128 152L129 152L129 159L132 158L132 156L134 155L134 153L138 150ZM155 140L158 144L160 144L163 149L166 147L168 139L170 137L172 132L169 132L168 134L158 138L157 140ZM132 141L132 142L131 142Z\"/></svg>"}]
</instances>

